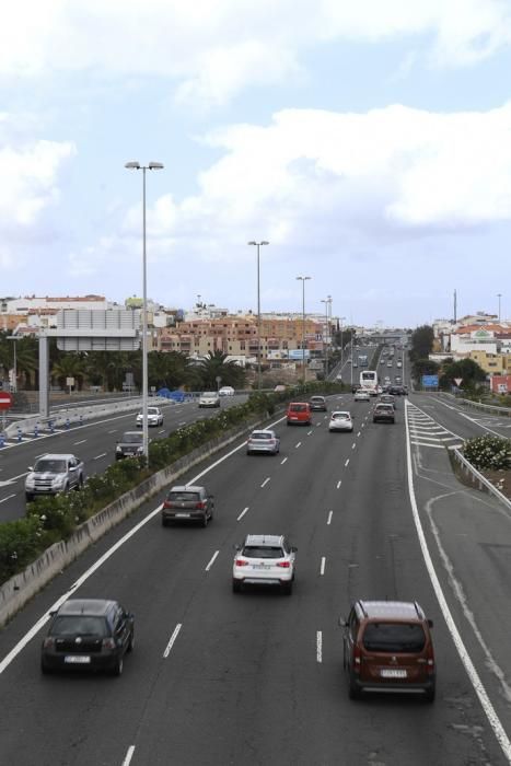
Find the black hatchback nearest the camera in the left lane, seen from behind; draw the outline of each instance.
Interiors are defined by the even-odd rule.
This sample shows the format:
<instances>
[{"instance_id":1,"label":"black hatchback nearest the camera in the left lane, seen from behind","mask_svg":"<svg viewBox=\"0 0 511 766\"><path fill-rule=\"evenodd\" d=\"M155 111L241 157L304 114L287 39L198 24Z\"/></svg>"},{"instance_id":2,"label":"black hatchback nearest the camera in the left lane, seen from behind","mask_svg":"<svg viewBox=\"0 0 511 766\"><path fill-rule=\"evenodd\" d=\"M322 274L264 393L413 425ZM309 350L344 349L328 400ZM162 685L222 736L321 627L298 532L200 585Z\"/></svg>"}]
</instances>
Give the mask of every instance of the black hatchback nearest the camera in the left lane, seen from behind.
<instances>
[{"instance_id":1,"label":"black hatchback nearest the camera in the left lane, seen from behind","mask_svg":"<svg viewBox=\"0 0 511 766\"><path fill-rule=\"evenodd\" d=\"M135 618L117 601L69 599L51 616L40 670L103 670L123 673L135 643Z\"/></svg>"}]
</instances>

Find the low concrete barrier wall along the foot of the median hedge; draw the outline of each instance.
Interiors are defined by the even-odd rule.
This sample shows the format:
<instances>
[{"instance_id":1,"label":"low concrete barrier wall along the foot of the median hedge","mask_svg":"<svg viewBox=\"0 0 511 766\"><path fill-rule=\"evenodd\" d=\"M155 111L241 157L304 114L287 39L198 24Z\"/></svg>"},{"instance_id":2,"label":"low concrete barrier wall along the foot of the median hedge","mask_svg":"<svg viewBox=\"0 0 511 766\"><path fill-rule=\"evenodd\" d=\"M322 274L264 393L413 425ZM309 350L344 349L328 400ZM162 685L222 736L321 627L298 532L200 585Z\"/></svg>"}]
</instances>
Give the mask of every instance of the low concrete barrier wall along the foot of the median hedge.
<instances>
[{"instance_id":1,"label":"low concrete barrier wall along the foot of the median hedge","mask_svg":"<svg viewBox=\"0 0 511 766\"><path fill-rule=\"evenodd\" d=\"M172 465L142 481L113 503L81 524L67 541L56 543L23 572L15 574L0 588L0 627L5 625L35 593L73 561L85 548L108 530L126 519L143 502L189 471L209 455L229 445L251 431L257 421L209 441Z\"/></svg>"}]
</instances>

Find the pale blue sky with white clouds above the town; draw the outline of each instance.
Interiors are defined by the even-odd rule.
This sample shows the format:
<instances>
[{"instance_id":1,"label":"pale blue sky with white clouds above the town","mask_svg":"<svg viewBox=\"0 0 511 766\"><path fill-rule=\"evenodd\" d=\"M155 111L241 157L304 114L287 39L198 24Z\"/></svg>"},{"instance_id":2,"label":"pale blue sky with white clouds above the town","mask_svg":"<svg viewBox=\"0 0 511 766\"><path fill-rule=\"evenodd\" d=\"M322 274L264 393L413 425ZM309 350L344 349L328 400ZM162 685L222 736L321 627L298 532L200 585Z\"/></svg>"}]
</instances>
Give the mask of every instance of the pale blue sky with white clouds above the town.
<instances>
[{"instance_id":1,"label":"pale blue sky with white clouds above the town","mask_svg":"<svg viewBox=\"0 0 511 766\"><path fill-rule=\"evenodd\" d=\"M511 0L4 4L0 297L142 294L131 160L164 306L511 320Z\"/></svg>"}]
</instances>

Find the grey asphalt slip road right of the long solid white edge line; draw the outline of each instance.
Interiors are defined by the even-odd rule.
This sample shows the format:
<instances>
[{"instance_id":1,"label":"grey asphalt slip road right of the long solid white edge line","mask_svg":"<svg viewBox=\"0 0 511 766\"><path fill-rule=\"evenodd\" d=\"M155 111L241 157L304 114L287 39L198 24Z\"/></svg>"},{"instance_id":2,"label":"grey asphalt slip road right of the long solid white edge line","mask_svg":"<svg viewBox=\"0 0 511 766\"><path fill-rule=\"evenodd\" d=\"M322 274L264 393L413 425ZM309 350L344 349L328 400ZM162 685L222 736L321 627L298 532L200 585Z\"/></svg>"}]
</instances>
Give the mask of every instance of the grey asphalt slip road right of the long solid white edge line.
<instances>
[{"instance_id":1,"label":"grey asphalt slip road right of the long solid white edge line","mask_svg":"<svg viewBox=\"0 0 511 766\"><path fill-rule=\"evenodd\" d=\"M507 652L511 629L507 608L510 513L496 498L458 483L444 451L416 461L415 481L425 533L449 608L511 738L511 662Z\"/></svg>"}]
</instances>

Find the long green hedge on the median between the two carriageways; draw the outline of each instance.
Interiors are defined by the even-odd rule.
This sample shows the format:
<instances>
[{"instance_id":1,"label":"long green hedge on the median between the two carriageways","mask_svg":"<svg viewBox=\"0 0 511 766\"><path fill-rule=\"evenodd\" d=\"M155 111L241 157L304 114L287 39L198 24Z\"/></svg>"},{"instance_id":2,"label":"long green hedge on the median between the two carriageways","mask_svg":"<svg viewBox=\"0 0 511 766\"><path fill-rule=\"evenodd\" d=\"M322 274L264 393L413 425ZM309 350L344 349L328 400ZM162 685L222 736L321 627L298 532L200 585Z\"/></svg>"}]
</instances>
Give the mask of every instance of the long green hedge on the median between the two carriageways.
<instances>
[{"instance_id":1,"label":"long green hedge on the median between the two carriageways","mask_svg":"<svg viewBox=\"0 0 511 766\"><path fill-rule=\"evenodd\" d=\"M0 525L0 584L23 571L54 543L68 539L79 524L195 449L236 427L248 426L255 418L271 416L290 398L340 390L339 384L322 382L289 388L281 394L256 392L244 404L222 408L214 417L183 426L166 439L152 441L149 467L142 459L128 457L113 463L103 474L90 476L80 491L37 498L28 503L24 519Z\"/></svg>"}]
</instances>

